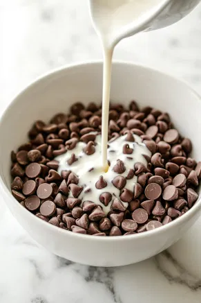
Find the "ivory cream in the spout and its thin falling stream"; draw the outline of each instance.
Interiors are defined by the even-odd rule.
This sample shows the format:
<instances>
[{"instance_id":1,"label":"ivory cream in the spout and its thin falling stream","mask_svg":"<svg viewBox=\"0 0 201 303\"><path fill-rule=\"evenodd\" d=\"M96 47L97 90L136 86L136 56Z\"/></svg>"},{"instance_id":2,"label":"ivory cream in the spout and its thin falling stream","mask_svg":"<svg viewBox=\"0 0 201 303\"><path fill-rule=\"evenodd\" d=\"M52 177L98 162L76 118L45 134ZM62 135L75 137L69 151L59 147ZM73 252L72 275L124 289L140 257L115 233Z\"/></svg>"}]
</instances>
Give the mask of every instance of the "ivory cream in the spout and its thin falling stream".
<instances>
[{"instance_id":1,"label":"ivory cream in the spout and its thin falling stream","mask_svg":"<svg viewBox=\"0 0 201 303\"><path fill-rule=\"evenodd\" d=\"M102 167L107 171L108 110L111 67L116 44L146 28L146 21L160 10L162 0L90 0L90 11L104 54L102 93Z\"/></svg>"}]
</instances>

